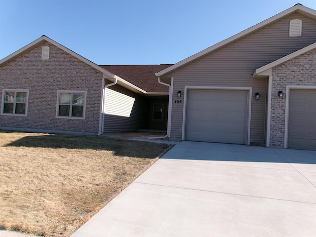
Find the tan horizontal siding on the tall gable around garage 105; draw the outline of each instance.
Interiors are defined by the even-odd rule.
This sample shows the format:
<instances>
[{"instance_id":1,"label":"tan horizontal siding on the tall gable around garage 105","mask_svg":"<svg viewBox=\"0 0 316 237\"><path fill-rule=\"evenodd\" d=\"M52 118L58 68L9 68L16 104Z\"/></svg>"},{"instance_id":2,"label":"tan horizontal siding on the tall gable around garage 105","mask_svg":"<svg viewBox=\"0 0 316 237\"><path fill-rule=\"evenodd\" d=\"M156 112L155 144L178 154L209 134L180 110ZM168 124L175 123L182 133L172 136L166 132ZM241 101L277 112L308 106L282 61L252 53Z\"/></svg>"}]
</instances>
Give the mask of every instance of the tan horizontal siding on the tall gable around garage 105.
<instances>
[{"instance_id":1,"label":"tan horizontal siding on the tall gable around garage 105","mask_svg":"<svg viewBox=\"0 0 316 237\"><path fill-rule=\"evenodd\" d=\"M302 37L289 37L289 22L292 19L302 20ZM166 76L174 77L174 97L178 90L184 91L186 85L252 87L250 142L264 143L267 79L253 79L252 73L315 41L316 21L293 13ZM260 94L257 101L254 100L256 92ZM173 103L171 137L181 138L182 117L183 103Z\"/></svg>"}]
</instances>

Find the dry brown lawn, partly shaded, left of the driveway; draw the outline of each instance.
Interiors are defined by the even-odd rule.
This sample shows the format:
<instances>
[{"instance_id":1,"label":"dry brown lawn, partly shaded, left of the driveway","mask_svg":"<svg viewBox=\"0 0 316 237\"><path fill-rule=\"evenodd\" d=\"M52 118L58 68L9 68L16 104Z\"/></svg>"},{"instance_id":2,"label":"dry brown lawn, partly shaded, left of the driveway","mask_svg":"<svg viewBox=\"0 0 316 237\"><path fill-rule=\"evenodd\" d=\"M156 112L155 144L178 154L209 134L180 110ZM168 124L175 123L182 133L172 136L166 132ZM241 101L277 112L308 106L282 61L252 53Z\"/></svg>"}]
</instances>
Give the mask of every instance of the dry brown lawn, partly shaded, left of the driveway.
<instances>
[{"instance_id":1,"label":"dry brown lawn, partly shaded, left of the driveway","mask_svg":"<svg viewBox=\"0 0 316 237\"><path fill-rule=\"evenodd\" d=\"M0 228L70 236L166 144L0 131Z\"/></svg>"}]
</instances>

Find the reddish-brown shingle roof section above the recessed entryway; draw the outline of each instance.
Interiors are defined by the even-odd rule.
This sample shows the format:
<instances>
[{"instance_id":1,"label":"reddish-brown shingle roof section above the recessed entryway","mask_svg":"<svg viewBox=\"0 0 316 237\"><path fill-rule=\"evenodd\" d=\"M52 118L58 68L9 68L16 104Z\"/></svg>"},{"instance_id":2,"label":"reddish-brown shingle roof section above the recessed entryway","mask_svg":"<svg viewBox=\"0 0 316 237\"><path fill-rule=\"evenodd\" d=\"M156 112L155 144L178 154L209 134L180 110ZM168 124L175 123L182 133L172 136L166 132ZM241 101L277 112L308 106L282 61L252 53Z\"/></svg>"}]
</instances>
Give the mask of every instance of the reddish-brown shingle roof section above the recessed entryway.
<instances>
[{"instance_id":1,"label":"reddish-brown shingle roof section above the recessed entryway","mask_svg":"<svg viewBox=\"0 0 316 237\"><path fill-rule=\"evenodd\" d=\"M168 86L158 82L155 73L171 65L172 64L99 66L147 92L169 92Z\"/></svg>"}]
</instances>

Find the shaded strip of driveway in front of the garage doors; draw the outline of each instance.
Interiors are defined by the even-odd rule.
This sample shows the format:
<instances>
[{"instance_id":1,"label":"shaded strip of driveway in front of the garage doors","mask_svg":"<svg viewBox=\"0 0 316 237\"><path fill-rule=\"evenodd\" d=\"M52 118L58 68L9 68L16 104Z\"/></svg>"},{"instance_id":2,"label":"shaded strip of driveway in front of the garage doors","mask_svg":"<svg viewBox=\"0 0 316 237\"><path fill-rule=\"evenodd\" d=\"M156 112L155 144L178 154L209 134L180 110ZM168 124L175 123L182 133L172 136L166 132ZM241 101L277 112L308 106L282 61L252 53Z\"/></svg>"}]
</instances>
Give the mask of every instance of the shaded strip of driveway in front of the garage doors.
<instances>
[{"instance_id":1,"label":"shaded strip of driveway in front of the garage doors","mask_svg":"<svg viewBox=\"0 0 316 237\"><path fill-rule=\"evenodd\" d=\"M185 141L165 159L316 164L316 151Z\"/></svg>"}]
</instances>

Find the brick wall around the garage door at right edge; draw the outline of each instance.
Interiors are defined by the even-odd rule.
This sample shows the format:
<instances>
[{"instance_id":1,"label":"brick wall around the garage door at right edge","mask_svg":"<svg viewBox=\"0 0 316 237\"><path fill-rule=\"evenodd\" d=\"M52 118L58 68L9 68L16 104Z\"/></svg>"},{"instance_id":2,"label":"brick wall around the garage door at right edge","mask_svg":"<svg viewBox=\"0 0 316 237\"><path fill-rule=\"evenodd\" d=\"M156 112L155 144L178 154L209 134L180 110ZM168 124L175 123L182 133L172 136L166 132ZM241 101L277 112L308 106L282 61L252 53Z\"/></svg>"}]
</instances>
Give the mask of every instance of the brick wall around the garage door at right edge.
<instances>
[{"instance_id":1,"label":"brick wall around the garage door at right edge","mask_svg":"<svg viewBox=\"0 0 316 237\"><path fill-rule=\"evenodd\" d=\"M316 86L315 65L316 49L313 49L272 69L271 146L284 146L286 86ZM278 91L283 91L283 99L278 98Z\"/></svg>"}]
</instances>

